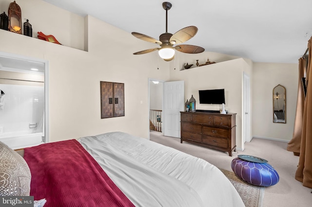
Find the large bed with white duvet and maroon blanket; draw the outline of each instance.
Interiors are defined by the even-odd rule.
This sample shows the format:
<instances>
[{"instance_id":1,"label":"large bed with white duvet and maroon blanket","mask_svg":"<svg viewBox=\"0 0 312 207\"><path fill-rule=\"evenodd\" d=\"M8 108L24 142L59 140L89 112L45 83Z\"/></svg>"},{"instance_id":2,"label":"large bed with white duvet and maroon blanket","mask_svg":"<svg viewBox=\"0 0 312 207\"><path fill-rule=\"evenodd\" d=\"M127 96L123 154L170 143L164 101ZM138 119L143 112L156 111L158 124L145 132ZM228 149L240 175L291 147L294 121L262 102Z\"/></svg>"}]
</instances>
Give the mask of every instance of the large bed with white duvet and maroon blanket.
<instances>
[{"instance_id":1,"label":"large bed with white duvet and maroon blanket","mask_svg":"<svg viewBox=\"0 0 312 207\"><path fill-rule=\"evenodd\" d=\"M23 195L45 199L44 207L244 206L214 165L123 132L25 148L23 156L31 172Z\"/></svg>"}]
</instances>

